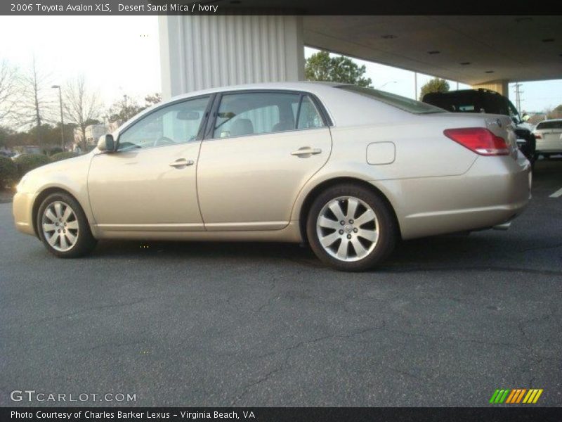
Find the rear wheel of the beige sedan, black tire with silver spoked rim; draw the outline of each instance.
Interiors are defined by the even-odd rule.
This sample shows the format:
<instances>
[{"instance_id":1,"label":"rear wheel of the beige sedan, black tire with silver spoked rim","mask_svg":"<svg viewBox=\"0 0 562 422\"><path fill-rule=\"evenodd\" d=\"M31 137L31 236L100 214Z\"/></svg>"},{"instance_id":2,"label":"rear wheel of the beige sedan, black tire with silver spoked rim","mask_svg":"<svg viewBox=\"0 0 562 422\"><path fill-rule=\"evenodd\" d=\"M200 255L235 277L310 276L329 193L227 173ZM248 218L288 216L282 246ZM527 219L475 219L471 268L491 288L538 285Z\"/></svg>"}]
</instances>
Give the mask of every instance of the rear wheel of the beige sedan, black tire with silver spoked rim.
<instances>
[{"instance_id":1,"label":"rear wheel of the beige sedan, black tire with silver spoked rim","mask_svg":"<svg viewBox=\"0 0 562 422\"><path fill-rule=\"evenodd\" d=\"M357 184L320 193L308 212L306 234L316 256L340 271L371 269L388 257L399 237L386 200Z\"/></svg>"}]
</instances>

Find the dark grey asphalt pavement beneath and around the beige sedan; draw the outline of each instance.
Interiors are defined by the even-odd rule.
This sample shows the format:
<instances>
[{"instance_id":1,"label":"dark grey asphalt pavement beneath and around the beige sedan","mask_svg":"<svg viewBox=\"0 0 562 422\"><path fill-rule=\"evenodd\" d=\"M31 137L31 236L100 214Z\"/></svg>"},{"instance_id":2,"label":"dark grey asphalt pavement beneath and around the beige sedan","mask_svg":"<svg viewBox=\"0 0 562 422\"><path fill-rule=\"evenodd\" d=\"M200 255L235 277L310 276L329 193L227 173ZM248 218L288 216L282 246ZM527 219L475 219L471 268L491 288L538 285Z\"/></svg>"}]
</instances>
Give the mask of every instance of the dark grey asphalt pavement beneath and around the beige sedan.
<instances>
[{"instance_id":1,"label":"dark grey asphalt pavement beneath and around the beige sedan","mask_svg":"<svg viewBox=\"0 0 562 422\"><path fill-rule=\"evenodd\" d=\"M0 406L561 406L562 159L533 180L509 231L403 242L362 274L284 244L58 260L0 204Z\"/></svg>"}]
</instances>

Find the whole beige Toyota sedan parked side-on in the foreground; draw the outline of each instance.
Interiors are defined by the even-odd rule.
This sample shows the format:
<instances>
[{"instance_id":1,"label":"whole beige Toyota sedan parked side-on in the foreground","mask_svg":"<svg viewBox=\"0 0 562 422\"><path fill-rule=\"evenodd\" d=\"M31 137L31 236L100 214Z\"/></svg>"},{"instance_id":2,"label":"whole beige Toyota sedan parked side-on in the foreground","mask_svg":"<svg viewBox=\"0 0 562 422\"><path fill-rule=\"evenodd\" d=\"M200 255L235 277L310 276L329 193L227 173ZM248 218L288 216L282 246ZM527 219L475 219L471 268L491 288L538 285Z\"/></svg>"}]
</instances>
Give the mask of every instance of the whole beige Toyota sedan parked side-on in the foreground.
<instances>
[{"instance_id":1,"label":"whole beige Toyota sedan parked side-on in the foreground","mask_svg":"<svg viewBox=\"0 0 562 422\"><path fill-rule=\"evenodd\" d=\"M509 117L296 82L160 103L26 174L13 214L58 257L108 238L302 242L358 271L400 239L505 229L529 198Z\"/></svg>"}]
</instances>

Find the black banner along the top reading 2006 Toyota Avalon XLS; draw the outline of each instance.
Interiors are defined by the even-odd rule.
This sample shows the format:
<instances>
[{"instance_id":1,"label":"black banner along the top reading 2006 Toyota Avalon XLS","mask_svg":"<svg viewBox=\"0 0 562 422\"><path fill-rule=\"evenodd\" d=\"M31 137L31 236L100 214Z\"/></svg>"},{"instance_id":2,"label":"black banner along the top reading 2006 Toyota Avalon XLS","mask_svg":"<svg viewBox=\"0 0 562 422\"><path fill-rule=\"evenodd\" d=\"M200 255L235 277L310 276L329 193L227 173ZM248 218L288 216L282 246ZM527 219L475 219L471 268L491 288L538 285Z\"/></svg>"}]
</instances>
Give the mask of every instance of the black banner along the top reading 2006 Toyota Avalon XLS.
<instances>
[{"instance_id":1,"label":"black banner along the top reading 2006 Toyota Avalon XLS","mask_svg":"<svg viewBox=\"0 0 562 422\"><path fill-rule=\"evenodd\" d=\"M3 0L0 15L552 15L551 3L500 0Z\"/></svg>"}]
</instances>

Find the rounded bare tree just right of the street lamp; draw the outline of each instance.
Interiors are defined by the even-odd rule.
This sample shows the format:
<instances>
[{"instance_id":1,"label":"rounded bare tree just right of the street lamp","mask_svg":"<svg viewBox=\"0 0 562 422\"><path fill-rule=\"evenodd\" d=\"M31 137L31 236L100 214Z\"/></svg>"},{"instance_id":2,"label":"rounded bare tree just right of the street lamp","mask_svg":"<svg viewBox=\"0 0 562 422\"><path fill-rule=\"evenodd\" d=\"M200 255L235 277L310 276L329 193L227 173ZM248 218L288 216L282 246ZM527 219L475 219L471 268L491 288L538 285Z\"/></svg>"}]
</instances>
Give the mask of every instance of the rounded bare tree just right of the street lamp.
<instances>
[{"instance_id":1,"label":"rounded bare tree just right of the street lamp","mask_svg":"<svg viewBox=\"0 0 562 422\"><path fill-rule=\"evenodd\" d=\"M98 96L88 89L84 75L79 75L66 84L63 98L66 115L80 129L81 147L86 151L86 127L100 115Z\"/></svg>"}]
</instances>

